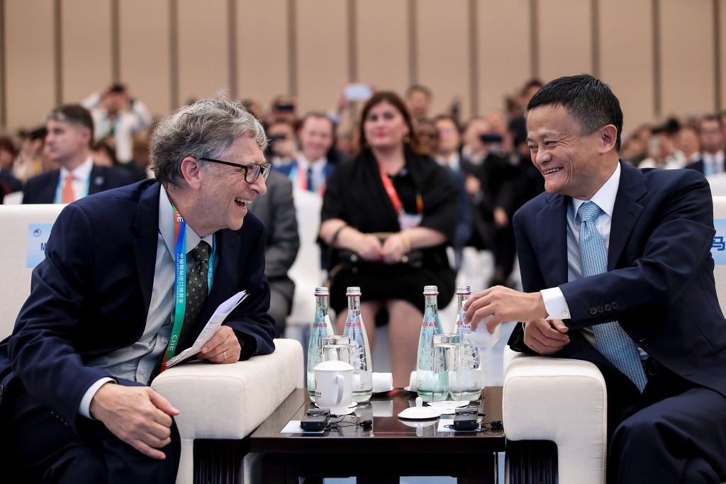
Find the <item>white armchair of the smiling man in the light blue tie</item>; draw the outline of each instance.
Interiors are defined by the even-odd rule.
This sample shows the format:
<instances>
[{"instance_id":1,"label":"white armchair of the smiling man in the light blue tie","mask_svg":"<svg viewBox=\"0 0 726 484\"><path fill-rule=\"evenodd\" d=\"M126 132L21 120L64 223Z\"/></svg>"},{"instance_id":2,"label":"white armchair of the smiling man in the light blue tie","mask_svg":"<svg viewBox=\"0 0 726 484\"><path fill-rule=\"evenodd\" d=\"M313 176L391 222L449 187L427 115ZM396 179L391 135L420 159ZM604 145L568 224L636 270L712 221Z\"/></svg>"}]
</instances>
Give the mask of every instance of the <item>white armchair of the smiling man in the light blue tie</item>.
<instances>
[{"instance_id":1,"label":"white armchair of the smiling man in the light blue tie","mask_svg":"<svg viewBox=\"0 0 726 484\"><path fill-rule=\"evenodd\" d=\"M717 232L711 253L716 262L716 292L721 311L726 312L726 245L719 243L726 243L726 197L713 200ZM607 390L597 366L528 356L507 346L504 367L502 410L507 439L554 442L560 484L605 483ZM507 482L511 482L509 476Z\"/></svg>"}]
</instances>

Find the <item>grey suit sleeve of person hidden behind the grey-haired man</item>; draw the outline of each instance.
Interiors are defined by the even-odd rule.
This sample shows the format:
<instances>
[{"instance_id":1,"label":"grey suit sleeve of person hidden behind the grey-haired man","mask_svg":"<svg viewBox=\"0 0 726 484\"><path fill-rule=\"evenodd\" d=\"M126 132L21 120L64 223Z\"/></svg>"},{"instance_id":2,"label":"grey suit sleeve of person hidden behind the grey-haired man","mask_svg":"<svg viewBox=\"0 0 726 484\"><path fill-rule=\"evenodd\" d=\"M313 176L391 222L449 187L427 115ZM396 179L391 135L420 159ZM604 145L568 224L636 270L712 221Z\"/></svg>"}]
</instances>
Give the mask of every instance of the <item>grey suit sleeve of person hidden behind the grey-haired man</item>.
<instances>
[{"instance_id":1,"label":"grey suit sleeve of person hidden behind the grey-haired man","mask_svg":"<svg viewBox=\"0 0 726 484\"><path fill-rule=\"evenodd\" d=\"M281 179L272 197L272 233L268 232L265 250L265 274L270 278L285 277L295 262L300 248L298 221L295 218L293 184ZM268 227L269 229L270 227Z\"/></svg>"}]
</instances>

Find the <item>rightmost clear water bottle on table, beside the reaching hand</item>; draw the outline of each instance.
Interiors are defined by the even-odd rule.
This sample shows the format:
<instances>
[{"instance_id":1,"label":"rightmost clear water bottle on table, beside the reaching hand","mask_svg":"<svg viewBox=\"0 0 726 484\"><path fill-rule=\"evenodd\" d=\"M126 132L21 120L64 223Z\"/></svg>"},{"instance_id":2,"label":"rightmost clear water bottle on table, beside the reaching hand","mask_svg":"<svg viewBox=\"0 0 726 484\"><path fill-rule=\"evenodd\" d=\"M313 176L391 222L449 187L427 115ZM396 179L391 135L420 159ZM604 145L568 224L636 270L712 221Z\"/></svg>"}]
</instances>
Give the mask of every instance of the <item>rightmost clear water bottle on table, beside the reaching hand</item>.
<instances>
[{"instance_id":1,"label":"rightmost clear water bottle on table, beside the reaching hand","mask_svg":"<svg viewBox=\"0 0 726 484\"><path fill-rule=\"evenodd\" d=\"M464 322L464 303L471 297L470 286L457 286L457 311L454 332L459 335L460 358L458 385L462 400L477 400L481 394L482 374L479 348L471 339L471 324Z\"/></svg>"}]
</instances>

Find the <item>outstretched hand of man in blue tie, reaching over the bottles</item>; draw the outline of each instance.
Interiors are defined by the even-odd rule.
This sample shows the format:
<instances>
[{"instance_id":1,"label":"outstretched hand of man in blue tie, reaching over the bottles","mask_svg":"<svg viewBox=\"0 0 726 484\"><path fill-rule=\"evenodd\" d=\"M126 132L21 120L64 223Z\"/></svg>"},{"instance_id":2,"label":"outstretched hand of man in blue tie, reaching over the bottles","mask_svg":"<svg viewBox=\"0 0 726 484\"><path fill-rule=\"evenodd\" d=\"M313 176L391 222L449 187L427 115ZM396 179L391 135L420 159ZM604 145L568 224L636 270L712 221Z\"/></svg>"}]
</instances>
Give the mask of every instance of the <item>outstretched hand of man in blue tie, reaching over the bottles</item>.
<instances>
[{"instance_id":1,"label":"outstretched hand of man in blue tie, reaching over the bottles","mask_svg":"<svg viewBox=\"0 0 726 484\"><path fill-rule=\"evenodd\" d=\"M476 329L482 319L492 316L486 321L489 334L494 333L497 324L505 321L532 321L547 317L539 292L519 292L504 286L477 292L464 304L464 311L465 320L471 322L471 329Z\"/></svg>"}]
</instances>

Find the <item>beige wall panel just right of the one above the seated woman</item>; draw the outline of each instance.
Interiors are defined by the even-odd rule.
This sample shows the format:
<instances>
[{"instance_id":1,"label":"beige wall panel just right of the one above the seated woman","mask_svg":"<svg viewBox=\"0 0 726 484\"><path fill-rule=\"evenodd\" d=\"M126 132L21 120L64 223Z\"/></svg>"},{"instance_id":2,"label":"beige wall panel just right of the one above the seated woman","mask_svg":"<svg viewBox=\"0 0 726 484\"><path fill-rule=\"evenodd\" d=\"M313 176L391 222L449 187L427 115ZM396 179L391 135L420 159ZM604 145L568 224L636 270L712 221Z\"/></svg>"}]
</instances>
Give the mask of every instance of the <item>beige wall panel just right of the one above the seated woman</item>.
<instances>
[{"instance_id":1,"label":"beige wall panel just right of the one above the seated woman","mask_svg":"<svg viewBox=\"0 0 726 484\"><path fill-rule=\"evenodd\" d=\"M448 112L461 102L462 118L470 115L469 19L467 0L418 0L418 82L433 91L431 115Z\"/></svg>"}]
</instances>

